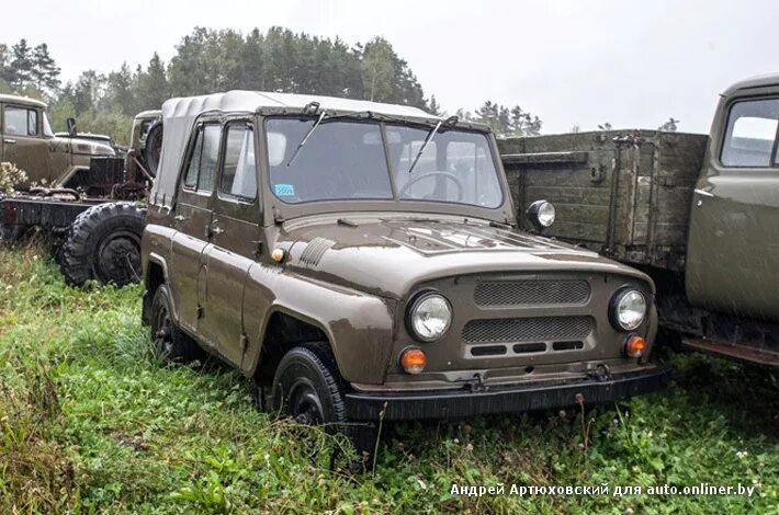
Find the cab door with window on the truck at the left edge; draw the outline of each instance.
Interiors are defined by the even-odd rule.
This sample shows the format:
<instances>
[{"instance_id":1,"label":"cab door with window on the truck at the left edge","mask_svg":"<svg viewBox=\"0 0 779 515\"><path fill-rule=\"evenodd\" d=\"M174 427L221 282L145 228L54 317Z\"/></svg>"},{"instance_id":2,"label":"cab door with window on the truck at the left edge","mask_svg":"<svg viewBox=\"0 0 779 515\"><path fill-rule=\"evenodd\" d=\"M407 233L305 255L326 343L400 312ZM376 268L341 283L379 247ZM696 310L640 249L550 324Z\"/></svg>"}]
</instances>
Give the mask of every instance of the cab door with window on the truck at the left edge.
<instances>
[{"instance_id":1,"label":"cab door with window on the truck at the left edge","mask_svg":"<svg viewBox=\"0 0 779 515\"><path fill-rule=\"evenodd\" d=\"M4 104L2 111L3 161L24 170L31 182L54 179L48 170L49 141L44 138L41 110Z\"/></svg>"}]
</instances>

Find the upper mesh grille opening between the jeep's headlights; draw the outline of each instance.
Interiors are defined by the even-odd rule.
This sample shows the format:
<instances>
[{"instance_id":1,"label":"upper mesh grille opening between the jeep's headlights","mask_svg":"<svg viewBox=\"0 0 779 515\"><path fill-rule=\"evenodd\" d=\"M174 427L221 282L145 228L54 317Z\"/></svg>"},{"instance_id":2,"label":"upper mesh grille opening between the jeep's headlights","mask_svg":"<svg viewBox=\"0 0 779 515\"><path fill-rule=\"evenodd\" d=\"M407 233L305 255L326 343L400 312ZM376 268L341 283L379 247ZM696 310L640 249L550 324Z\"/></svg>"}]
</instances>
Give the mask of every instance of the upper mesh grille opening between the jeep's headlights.
<instances>
[{"instance_id":1,"label":"upper mesh grille opening between the jeep's headlights","mask_svg":"<svg viewBox=\"0 0 779 515\"><path fill-rule=\"evenodd\" d=\"M583 305L588 298L589 284L579 279L492 281L474 291L477 306Z\"/></svg>"}]
</instances>

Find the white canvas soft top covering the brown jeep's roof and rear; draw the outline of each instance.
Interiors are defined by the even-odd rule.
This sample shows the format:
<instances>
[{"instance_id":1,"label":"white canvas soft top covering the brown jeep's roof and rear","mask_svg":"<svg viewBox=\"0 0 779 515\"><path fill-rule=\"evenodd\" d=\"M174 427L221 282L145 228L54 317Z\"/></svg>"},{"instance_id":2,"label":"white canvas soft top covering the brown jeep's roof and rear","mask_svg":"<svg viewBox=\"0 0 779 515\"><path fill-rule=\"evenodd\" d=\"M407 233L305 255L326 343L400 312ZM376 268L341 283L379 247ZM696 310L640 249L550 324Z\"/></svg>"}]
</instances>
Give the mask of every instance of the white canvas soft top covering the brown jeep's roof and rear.
<instances>
[{"instance_id":1,"label":"white canvas soft top covering the brown jeep's roof and rear","mask_svg":"<svg viewBox=\"0 0 779 515\"><path fill-rule=\"evenodd\" d=\"M339 99L293 93L268 93L260 91L228 91L202 96L171 99L162 104L162 152L157 179L151 187L151 204L172 206L176 179L181 159L187 150L190 130L197 116L208 111L225 113L256 113L262 108L302 110L311 102L318 102L320 110L339 112L365 112L387 116L440 119L418 107L383 104L364 100Z\"/></svg>"}]
</instances>

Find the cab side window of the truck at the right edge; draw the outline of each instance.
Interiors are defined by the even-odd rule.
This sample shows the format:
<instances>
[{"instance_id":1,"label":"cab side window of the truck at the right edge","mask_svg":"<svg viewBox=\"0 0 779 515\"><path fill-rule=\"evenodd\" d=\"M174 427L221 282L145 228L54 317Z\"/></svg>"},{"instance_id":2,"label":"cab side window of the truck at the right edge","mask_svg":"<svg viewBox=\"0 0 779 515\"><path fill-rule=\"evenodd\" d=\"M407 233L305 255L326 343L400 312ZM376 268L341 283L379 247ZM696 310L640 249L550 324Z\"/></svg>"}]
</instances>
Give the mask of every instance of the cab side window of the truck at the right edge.
<instances>
[{"instance_id":1,"label":"cab side window of the truck at the right edge","mask_svg":"<svg viewBox=\"0 0 779 515\"><path fill-rule=\"evenodd\" d=\"M779 126L779 99L737 102L731 107L720 159L725 167L770 167Z\"/></svg>"}]
</instances>

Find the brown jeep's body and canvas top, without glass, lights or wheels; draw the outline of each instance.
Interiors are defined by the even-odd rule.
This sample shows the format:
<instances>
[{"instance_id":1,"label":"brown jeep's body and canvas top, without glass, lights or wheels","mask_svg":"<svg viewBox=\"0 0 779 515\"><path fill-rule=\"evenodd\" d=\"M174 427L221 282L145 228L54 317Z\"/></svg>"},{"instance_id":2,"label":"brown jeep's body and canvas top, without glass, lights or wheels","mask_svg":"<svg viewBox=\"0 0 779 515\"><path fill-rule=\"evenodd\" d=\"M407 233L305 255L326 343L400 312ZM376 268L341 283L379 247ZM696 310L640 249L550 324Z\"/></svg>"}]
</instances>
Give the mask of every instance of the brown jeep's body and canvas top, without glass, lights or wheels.
<instances>
[{"instance_id":1,"label":"brown jeep's body and canvas top, without glass, lights or wheels","mask_svg":"<svg viewBox=\"0 0 779 515\"><path fill-rule=\"evenodd\" d=\"M503 190L494 209L396 196L282 202L269 184L266 119L311 117L313 102L336 117L426 130L441 122L405 106L307 95L229 92L168 101L142 243L147 321L165 284L176 327L259 384L273 380L289 348L326 342L354 420L609 402L665 382L667 370L648 352L625 357L629 334L610 322L614 295L639 289L651 308L633 333L651 344L652 281L595 252L518 230L486 126L456 125L488 138ZM203 124L253 128L253 201L184 184L192 137ZM407 311L420 291L431 290L449 299L453 317L440 340L421 343L407 327ZM421 374L400 366L408 347L427 354Z\"/></svg>"}]
</instances>

